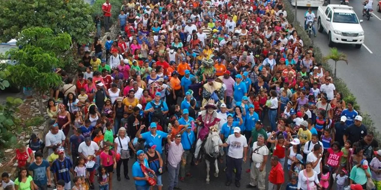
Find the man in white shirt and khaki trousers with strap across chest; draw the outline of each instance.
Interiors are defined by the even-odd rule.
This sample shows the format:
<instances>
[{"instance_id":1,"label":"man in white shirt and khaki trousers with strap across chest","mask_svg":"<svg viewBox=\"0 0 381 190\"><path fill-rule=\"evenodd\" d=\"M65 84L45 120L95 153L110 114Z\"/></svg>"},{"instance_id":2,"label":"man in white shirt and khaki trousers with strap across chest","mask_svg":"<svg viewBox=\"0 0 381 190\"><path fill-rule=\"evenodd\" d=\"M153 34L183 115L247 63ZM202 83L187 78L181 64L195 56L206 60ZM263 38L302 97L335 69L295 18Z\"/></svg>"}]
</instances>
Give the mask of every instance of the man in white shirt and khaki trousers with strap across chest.
<instances>
[{"instance_id":1,"label":"man in white shirt and khaki trousers with strap across chest","mask_svg":"<svg viewBox=\"0 0 381 190\"><path fill-rule=\"evenodd\" d=\"M250 184L246 185L247 188L255 188L258 184L259 190L265 189L266 183L266 161L269 155L269 149L264 144L264 136L258 134L257 141L253 143L251 160L253 163L250 168Z\"/></svg>"}]
</instances>

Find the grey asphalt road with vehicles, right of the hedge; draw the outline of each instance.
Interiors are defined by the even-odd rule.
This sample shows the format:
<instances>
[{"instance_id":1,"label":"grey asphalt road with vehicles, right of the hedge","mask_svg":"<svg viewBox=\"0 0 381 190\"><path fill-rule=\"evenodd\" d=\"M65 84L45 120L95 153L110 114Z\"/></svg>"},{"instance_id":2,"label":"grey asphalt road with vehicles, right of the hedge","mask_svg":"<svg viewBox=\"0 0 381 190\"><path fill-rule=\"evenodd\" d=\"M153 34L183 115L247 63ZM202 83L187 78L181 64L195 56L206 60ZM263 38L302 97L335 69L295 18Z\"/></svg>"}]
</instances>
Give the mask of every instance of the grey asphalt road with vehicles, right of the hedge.
<instances>
[{"instance_id":1,"label":"grey asphalt road with vehicles, right of the hedge","mask_svg":"<svg viewBox=\"0 0 381 190\"><path fill-rule=\"evenodd\" d=\"M344 62L337 64L337 76L346 81L351 92L357 97L357 102L362 108L362 112L370 114L375 122L375 126L381 130L381 96L379 96L378 87L381 86L381 80L378 78L379 70L381 70L381 48L379 47L379 32L381 31L381 13L376 11L378 1L373 1L373 17L369 21L362 17L362 1L349 0L349 6L354 8L359 19L363 19L362 28L365 31L365 43L361 49L355 49L354 45L336 44L339 51L347 55L349 64ZM331 4L339 4L339 0L331 0ZM304 13L306 7L298 7L297 19L304 23ZM317 8L313 11L317 14ZM317 23L315 23L317 27ZM317 32L317 30L316 30ZM328 35L326 32L317 32L317 37L312 37L317 46L320 47L322 53L329 53ZM329 62L332 68L335 63Z\"/></svg>"}]
</instances>

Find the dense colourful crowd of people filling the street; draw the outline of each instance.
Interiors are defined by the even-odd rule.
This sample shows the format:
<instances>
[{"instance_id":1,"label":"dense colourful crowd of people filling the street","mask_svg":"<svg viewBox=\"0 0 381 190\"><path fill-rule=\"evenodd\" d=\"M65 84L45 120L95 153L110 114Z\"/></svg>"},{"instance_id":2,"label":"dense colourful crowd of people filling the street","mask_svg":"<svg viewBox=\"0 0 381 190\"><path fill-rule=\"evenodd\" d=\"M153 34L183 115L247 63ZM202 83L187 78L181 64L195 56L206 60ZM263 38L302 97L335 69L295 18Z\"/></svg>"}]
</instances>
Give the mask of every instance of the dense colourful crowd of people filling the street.
<instances>
[{"instance_id":1,"label":"dense colourful crowd of people filling the street","mask_svg":"<svg viewBox=\"0 0 381 190\"><path fill-rule=\"evenodd\" d=\"M117 39L99 40L98 27L79 50L77 79L56 70L50 131L20 145L9 162L17 160L17 178L2 174L2 186L88 190L97 180L112 190L123 165L136 190L181 189L191 167L214 158L226 186L240 187L246 171L246 187L259 190L380 190L378 141L288 23L284 3L125 0ZM112 9L106 0L96 18L106 31Z\"/></svg>"}]
</instances>

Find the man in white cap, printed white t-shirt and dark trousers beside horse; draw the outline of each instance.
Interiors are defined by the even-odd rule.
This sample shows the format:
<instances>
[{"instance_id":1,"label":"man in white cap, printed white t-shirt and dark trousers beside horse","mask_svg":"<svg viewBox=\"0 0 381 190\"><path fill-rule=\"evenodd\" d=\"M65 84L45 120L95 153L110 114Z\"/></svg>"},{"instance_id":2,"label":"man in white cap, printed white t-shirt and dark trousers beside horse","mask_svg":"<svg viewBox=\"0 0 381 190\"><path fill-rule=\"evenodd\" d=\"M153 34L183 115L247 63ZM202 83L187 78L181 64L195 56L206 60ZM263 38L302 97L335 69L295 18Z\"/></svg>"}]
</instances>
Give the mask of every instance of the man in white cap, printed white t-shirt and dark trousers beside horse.
<instances>
[{"instance_id":1,"label":"man in white cap, printed white t-shirt and dark trousers beside horse","mask_svg":"<svg viewBox=\"0 0 381 190\"><path fill-rule=\"evenodd\" d=\"M246 162L247 159L247 141L246 137L241 135L241 129L239 127L234 128L234 134L229 135L226 142L220 146L228 147L227 152L227 170L226 170L226 186L230 186L233 178L233 168L236 169L235 173L235 186L240 187L241 172L242 172L242 160ZM242 159L243 155L243 159Z\"/></svg>"}]
</instances>

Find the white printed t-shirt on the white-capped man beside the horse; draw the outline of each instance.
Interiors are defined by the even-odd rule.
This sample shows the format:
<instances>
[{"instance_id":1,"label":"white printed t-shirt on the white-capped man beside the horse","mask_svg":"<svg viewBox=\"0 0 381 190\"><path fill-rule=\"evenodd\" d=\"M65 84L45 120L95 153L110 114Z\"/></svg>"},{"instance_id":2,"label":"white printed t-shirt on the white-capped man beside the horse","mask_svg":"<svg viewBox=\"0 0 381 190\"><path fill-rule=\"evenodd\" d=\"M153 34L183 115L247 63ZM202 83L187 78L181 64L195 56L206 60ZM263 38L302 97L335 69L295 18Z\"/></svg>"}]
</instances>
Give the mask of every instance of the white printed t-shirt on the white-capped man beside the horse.
<instances>
[{"instance_id":1,"label":"white printed t-shirt on the white-capped man beside the horse","mask_svg":"<svg viewBox=\"0 0 381 190\"><path fill-rule=\"evenodd\" d=\"M243 148L247 147L246 137L241 135L239 138L235 137L234 134L229 135L226 140L229 144L229 151L227 155L232 158L243 158Z\"/></svg>"}]
</instances>

